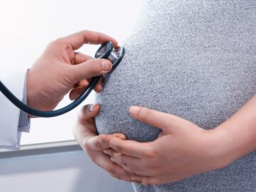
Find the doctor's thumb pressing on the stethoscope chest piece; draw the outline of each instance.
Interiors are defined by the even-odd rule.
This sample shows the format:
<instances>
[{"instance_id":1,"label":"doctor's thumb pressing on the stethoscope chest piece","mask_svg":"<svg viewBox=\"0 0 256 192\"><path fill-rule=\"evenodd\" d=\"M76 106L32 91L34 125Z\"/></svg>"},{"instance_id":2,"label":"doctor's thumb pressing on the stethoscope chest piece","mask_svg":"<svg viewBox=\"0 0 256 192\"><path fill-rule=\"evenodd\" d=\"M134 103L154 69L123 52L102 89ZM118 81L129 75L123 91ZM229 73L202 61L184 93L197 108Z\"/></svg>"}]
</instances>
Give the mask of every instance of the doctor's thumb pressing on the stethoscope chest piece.
<instances>
[{"instance_id":1,"label":"doctor's thumb pressing on the stethoscope chest piece","mask_svg":"<svg viewBox=\"0 0 256 192\"><path fill-rule=\"evenodd\" d=\"M90 79L108 73L112 69L112 63L110 60L105 59L90 59L84 63L72 65L72 68L73 71L70 75L75 84L80 80Z\"/></svg>"}]
</instances>

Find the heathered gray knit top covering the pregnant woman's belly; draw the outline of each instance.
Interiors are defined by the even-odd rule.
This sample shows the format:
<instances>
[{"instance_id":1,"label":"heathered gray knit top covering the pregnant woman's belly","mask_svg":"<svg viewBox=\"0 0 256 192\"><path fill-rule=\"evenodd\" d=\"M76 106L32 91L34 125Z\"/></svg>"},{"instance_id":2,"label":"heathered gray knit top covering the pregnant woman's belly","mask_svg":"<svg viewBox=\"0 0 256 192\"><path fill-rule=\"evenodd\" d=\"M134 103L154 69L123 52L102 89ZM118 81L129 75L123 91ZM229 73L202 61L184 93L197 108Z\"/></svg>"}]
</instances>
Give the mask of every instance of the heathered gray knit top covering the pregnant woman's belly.
<instances>
[{"instance_id":1,"label":"heathered gray knit top covering the pregnant woman's belly","mask_svg":"<svg viewBox=\"0 0 256 192\"><path fill-rule=\"evenodd\" d=\"M122 63L105 77L105 88L97 95L99 133L120 132L139 142L156 139L157 129L129 117L131 105L176 114L211 129L255 95L256 1L144 1L124 47ZM218 171L134 188L256 191L256 152Z\"/></svg>"}]
</instances>

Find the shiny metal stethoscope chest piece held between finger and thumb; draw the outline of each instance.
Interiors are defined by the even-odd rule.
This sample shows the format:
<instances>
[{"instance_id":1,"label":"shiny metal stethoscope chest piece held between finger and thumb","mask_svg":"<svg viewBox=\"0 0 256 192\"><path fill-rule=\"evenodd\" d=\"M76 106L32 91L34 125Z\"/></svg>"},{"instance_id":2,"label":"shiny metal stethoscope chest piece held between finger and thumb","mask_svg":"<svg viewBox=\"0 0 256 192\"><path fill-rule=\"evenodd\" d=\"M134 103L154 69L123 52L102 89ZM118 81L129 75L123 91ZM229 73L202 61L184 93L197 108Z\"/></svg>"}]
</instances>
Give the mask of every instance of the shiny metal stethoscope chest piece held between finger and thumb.
<instances>
[{"instance_id":1,"label":"shiny metal stethoscope chest piece held between finger and thumb","mask_svg":"<svg viewBox=\"0 0 256 192\"><path fill-rule=\"evenodd\" d=\"M114 45L112 42L107 41L98 48L98 50L95 53L95 58L105 58L107 60L110 60L113 68L116 68L117 65L120 63L124 56L124 48L117 46L114 48Z\"/></svg>"}]
</instances>

